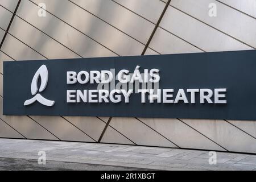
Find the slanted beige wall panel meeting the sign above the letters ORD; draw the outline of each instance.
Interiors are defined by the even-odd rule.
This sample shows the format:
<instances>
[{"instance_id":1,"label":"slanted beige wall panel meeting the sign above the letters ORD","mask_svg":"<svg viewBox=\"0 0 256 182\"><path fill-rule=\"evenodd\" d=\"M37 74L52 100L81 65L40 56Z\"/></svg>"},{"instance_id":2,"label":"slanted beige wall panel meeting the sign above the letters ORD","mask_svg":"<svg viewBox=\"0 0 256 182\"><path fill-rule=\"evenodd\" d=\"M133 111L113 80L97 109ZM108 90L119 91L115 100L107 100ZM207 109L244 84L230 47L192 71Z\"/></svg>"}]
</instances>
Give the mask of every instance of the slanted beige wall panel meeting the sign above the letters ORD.
<instances>
[{"instance_id":1,"label":"slanted beige wall panel meeting the sign above the letters ORD","mask_svg":"<svg viewBox=\"0 0 256 182\"><path fill-rule=\"evenodd\" d=\"M41 18L37 13L38 6L22 1L16 15L82 57L117 56L55 16L47 13L46 17Z\"/></svg>"}]
</instances>

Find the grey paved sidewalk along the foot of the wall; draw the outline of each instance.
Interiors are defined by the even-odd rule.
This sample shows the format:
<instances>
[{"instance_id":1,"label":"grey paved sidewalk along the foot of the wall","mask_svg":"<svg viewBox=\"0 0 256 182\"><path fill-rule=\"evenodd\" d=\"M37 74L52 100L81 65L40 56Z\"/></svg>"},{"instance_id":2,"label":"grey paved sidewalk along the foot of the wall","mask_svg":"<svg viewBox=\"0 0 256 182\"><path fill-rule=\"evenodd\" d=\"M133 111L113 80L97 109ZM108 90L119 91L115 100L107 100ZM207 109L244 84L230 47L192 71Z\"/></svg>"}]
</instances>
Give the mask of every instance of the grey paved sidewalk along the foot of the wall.
<instances>
[{"instance_id":1,"label":"grey paved sidewalk along the foot of the wall","mask_svg":"<svg viewBox=\"0 0 256 182\"><path fill-rule=\"evenodd\" d=\"M46 152L46 165L38 164L39 151ZM256 170L256 155L217 152L217 164L210 165L208 154L120 144L0 139L0 169L7 170L11 165L16 166L13 169L20 165L21 169L56 170Z\"/></svg>"}]
</instances>

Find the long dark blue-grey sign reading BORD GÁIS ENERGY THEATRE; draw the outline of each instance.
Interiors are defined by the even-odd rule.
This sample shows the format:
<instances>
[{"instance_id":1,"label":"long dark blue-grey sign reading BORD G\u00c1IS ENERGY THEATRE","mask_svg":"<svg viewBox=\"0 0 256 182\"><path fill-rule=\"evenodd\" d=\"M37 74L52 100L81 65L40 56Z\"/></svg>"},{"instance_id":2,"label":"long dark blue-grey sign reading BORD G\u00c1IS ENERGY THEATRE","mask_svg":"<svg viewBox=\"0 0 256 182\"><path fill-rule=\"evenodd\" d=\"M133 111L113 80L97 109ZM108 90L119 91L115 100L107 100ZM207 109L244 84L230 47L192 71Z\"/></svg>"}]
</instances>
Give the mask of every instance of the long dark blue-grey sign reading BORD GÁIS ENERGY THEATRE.
<instances>
[{"instance_id":1,"label":"long dark blue-grey sign reading BORD G\u00c1IS ENERGY THEATRE","mask_svg":"<svg viewBox=\"0 0 256 182\"><path fill-rule=\"evenodd\" d=\"M256 51L5 61L3 114L256 119Z\"/></svg>"}]
</instances>

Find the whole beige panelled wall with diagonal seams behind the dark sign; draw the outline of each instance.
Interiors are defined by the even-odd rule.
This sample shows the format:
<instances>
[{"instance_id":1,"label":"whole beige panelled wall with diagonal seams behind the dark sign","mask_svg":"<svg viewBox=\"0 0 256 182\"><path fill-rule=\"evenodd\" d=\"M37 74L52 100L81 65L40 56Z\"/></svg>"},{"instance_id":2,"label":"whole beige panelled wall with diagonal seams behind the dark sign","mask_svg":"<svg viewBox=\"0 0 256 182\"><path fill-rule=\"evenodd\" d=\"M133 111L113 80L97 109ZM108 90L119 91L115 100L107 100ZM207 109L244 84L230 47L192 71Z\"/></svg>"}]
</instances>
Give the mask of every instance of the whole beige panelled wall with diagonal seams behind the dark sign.
<instances>
[{"instance_id":1,"label":"whole beige panelled wall with diagonal seams behind the dark sign","mask_svg":"<svg viewBox=\"0 0 256 182\"><path fill-rule=\"evenodd\" d=\"M255 121L2 115L3 60L141 55L166 2L22 0L0 49L0 137L256 153ZM17 3L0 0L0 40ZM256 0L172 0L145 55L255 49L255 30Z\"/></svg>"}]
</instances>

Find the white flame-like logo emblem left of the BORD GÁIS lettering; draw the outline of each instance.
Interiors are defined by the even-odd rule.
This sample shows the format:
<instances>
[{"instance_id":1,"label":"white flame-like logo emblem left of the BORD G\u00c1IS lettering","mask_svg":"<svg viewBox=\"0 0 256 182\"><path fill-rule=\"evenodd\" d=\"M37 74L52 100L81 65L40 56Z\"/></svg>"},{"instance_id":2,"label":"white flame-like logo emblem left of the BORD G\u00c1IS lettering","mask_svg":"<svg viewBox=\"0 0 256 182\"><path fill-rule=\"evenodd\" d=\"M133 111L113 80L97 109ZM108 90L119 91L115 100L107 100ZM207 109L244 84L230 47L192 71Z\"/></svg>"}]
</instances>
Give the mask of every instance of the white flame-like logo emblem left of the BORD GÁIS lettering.
<instances>
[{"instance_id":1,"label":"white flame-like logo emblem left of the BORD G\u00c1IS lettering","mask_svg":"<svg viewBox=\"0 0 256 182\"><path fill-rule=\"evenodd\" d=\"M33 104L35 101L40 102L41 104L45 105L45 106L53 106L55 101L50 101L47 100L46 98L44 98L43 96L41 96L38 93L38 78L41 78L41 85L39 88L39 92L43 92L44 89L46 89L46 85L48 82L48 70L46 68L46 65L42 65L38 71L36 71L33 80L31 82L31 94L34 96L33 98L31 98L30 100L26 100L24 102L24 106ZM36 94L36 95L35 95Z\"/></svg>"}]
</instances>

